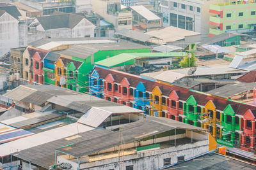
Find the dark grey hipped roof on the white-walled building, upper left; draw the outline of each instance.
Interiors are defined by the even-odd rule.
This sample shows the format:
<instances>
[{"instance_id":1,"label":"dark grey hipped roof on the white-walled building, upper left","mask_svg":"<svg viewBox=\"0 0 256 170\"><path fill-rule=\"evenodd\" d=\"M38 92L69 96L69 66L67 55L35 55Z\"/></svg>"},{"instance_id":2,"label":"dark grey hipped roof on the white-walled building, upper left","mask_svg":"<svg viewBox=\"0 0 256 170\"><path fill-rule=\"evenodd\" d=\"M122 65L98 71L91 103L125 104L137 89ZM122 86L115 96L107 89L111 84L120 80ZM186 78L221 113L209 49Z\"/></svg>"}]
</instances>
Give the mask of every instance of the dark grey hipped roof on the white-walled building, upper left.
<instances>
[{"instance_id":1,"label":"dark grey hipped roof on the white-walled building, upper left","mask_svg":"<svg viewBox=\"0 0 256 170\"><path fill-rule=\"evenodd\" d=\"M37 20L40 22L45 30L48 29L60 29L60 28L74 28L84 17L75 14L60 14L50 15L45 17L38 17Z\"/></svg>"}]
</instances>

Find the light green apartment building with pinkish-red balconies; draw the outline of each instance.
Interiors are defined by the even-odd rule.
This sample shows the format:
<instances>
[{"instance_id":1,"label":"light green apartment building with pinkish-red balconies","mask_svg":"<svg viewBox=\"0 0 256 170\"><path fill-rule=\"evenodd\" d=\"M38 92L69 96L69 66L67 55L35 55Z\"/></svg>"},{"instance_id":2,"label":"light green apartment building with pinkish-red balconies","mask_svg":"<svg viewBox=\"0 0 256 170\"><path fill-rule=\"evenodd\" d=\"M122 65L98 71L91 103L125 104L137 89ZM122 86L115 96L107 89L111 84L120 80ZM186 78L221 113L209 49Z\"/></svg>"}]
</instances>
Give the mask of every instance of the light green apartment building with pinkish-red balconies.
<instances>
[{"instance_id":1,"label":"light green apartment building with pinkish-red balconies","mask_svg":"<svg viewBox=\"0 0 256 170\"><path fill-rule=\"evenodd\" d=\"M209 36L223 32L250 32L256 30L255 1L228 1L210 5Z\"/></svg>"}]
</instances>

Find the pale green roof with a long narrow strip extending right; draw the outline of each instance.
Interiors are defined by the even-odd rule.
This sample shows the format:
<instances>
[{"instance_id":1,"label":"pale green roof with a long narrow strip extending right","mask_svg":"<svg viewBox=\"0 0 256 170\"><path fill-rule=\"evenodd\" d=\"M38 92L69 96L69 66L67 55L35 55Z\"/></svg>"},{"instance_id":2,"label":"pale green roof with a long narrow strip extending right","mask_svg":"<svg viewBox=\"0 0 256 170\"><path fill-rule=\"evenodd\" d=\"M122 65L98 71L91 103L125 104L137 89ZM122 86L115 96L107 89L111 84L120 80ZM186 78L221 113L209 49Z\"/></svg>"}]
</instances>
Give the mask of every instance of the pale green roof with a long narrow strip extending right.
<instances>
[{"instance_id":1,"label":"pale green roof with a long narrow strip extending right","mask_svg":"<svg viewBox=\"0 0 256 170\"><path fill-rule=\"evenodd\" d=\"M114 67L129 60L134 60L139 57L184 57L186 52L169 52L169 53L120 53L108 59L100 60L95 64L105 67Z\"/></svg>"}]
</instances>

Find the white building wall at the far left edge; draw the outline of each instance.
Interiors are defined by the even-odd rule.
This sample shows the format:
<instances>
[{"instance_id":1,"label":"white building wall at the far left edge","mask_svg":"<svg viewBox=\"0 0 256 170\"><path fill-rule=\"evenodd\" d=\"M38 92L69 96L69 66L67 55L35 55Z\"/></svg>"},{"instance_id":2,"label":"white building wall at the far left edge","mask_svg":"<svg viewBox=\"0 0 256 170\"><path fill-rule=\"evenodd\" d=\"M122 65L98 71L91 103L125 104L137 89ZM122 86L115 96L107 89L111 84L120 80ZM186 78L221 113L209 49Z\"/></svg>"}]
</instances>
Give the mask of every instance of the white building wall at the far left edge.
<instances>
[{"instance_id":1,"label":"white building wall at the far left edge","mask_svg":"<svg viewBox=\"0 0 256 170\"><path fill-rule=\"evenodd\" d=\"M19 20L8 13L0 17L0 56L19 47Z\"/></svg>"}]
</instances>

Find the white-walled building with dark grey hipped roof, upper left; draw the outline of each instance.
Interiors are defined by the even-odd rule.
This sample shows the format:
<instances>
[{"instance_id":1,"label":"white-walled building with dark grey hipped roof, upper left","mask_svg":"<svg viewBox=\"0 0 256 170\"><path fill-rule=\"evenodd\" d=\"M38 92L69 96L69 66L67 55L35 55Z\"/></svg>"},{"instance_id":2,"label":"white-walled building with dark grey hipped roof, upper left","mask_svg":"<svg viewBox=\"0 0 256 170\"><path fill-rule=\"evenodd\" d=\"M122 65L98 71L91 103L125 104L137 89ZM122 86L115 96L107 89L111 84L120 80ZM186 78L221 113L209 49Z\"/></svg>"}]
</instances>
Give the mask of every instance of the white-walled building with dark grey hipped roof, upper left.
<instances>
[{"instance_id":1,"label":"white-walled building with dark grey hipped roof, upper left","mask_svg":"<svg viewBox=\"0 0 256 170\"><path fill-rule=\"evenodd\" d=\"M93 37L95 25L81 15L56 12L35 18L28 29L28 41L31 42L41 38Z\"/></svg>"}]
</instances>

